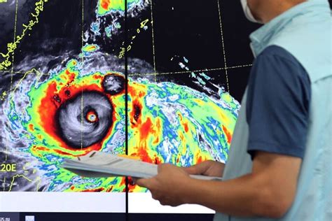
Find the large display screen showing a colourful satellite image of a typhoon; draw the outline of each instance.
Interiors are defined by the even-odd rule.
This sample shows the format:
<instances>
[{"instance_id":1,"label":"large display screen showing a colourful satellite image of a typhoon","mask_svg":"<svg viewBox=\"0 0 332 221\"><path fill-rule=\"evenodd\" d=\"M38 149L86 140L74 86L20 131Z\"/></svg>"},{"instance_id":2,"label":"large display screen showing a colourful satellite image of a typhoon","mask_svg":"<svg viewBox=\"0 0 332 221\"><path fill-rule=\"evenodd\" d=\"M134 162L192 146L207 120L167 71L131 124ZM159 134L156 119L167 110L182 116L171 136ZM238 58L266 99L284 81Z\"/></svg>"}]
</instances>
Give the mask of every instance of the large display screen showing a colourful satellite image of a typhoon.
<instances>
[{"instance_id":1,"label":"large display screen showing a colourful satellite image of a typhoon","mask_svg":"<svg viewBox=\"0 0 332 221\"><path fill-rule=\"evenodd\" d=\"M0 211L213 213L61 164L226 162L253 59L240 1L0 0L0 15Z\"/></svg>"}]
</instances>

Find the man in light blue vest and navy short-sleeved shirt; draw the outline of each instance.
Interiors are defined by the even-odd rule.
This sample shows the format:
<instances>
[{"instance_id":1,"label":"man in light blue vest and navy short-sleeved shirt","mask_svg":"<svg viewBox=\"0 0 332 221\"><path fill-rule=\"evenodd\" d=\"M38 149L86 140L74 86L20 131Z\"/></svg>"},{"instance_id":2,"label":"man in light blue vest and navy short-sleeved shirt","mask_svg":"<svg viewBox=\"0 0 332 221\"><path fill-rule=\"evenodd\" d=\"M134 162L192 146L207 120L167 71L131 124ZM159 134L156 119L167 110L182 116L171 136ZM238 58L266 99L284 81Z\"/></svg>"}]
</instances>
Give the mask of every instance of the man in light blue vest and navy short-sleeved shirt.
<instances>
[{"instance_id":1,"label":"man in light blue vest and navy short-sleeved shirt","mask_svg":"<svg viewBox=\"0 0 332 221\"><path fill-rule=\"evenodd\" d=\"M242 0L256 60L225 168L170 164L137 180L163 205L215 220L332 220L331 9L327 0ZM223 181L188 176L223 176Z\"/></svg>"}]
</instances>

